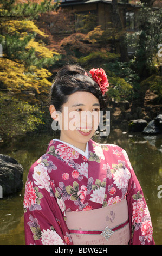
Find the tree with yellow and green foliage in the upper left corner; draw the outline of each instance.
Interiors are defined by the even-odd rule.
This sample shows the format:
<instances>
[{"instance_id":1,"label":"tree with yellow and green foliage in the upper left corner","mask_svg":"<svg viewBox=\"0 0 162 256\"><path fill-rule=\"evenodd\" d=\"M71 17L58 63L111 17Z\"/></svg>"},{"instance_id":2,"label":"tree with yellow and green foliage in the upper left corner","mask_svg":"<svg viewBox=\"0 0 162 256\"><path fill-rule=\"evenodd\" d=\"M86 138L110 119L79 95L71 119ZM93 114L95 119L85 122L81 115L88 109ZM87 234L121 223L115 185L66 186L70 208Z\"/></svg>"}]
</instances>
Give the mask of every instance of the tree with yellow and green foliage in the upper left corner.
<instances>
[{"instance_id":1,"label":"tree with yellow and green foliage in the upper left corner","mask_svg":"<svg viewBox=\"0 0 162 256\"><path fill-rule=\"evenodd\" d=\"M31 17L37 17L40 11L47 11L50 2L38 4L16 4L13 0L2 1L0 16L0 41L3 57L0 58L1 88L9 90L35 89L40 93L49 86L46 69L53 64L59 54L49 50L42 38L44 34ZM44 87L42 87L44 84Z\"/></svg>"}]
</instances>

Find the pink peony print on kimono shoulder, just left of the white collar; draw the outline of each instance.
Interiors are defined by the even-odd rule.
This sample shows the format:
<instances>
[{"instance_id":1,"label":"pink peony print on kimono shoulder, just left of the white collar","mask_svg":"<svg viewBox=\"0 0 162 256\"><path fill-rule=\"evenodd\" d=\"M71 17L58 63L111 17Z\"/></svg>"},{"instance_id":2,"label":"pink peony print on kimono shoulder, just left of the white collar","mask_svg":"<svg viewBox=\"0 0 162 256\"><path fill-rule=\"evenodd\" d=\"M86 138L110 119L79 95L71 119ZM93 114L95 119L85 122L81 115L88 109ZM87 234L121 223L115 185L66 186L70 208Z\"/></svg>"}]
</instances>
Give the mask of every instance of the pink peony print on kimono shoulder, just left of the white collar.
<instances>
[{"instance_id":1,"label":"pink peony print on kimono shoulder, just left of the white collar","mask_svg":"<svg viewBox=\"0 0 162 256\"><path fill-rule=\"evenodd\" d=\"M64 161L69 161L73 159L78 159L79 152L77 152L75 149L68 147L68 145L59 144L57 145L57 149L55 150L55 153L59 154L59 156L64 159Z\"/></svg>"}]
</instances>

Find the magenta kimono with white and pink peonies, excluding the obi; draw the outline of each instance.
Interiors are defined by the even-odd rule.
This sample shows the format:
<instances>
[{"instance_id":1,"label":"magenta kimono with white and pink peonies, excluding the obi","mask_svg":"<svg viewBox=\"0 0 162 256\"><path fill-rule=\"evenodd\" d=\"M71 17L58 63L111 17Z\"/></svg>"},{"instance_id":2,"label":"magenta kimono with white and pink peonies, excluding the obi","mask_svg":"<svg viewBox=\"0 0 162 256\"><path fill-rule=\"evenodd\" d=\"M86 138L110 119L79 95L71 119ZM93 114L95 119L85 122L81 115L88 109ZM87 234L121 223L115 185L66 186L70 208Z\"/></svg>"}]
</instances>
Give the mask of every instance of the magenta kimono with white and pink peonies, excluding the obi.
<instances>
[{"instance_id":1,"label":"magenta kimono with white and pink peonies, excluding the obi","mask_svg":"<svg viewBox=\"0 0 162 256\"><path fill-rule=\"evenodd\" d=\"M46 154L30 167L24 194L26 245L73 245L67 214L95 215L124 201L128 244L154 245L150 213L126 151L92 139L86 149L87 157L72 145L53 139ZM113 221L113 211L110 214ZM100 214L97 217L100 220ZM79 223L80 218L75 221Z\"/></svg>"}]
</instances>

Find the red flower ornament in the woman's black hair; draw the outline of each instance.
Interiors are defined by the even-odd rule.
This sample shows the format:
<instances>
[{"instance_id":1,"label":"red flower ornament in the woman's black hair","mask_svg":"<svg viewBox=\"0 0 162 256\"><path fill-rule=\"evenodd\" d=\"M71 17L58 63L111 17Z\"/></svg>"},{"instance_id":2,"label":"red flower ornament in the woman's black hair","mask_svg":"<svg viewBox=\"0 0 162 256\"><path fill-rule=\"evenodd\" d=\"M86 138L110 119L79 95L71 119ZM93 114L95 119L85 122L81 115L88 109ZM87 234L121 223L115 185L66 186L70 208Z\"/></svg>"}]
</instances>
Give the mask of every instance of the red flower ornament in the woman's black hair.
<instances>
[{"instance_id":1,"label":"red flower ornament in the woman's black hair","mask_svg":"<svg viewBox=\"0 0 162 256\"><path fill-rule=\"evenodd\" d=\"M103 69L91 69L89 73L92 75L92 79L99 85L102 94L108 91L107 87L109 87L109 82L107 79L107 75L105 70ZM88 76L87 72L85 75Z\"/></svg>"}]
</instances>

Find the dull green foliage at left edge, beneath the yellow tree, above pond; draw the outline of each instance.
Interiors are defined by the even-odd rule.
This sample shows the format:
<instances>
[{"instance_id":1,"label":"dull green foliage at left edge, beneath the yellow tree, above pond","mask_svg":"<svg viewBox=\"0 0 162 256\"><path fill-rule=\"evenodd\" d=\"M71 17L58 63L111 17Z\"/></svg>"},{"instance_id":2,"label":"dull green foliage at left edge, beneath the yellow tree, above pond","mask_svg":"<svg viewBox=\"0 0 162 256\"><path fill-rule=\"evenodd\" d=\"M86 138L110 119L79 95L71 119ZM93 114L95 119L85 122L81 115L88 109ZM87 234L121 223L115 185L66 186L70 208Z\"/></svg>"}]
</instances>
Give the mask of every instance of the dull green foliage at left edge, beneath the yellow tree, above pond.
<instances>
[{"instance_id":1,"label":"dull green foliage at left edge, beneath the yellow tree, above pond","mask_svg":"<svg viewBox=\"0 0 162 256\"><path fill-rule=\"evenodd\" d=\"M44 111L36 104L31 106L28 102L17 100L15 96L1 93L0 105L1 136L23 135L44 124Z\"/></svg>"}]
</instances>

